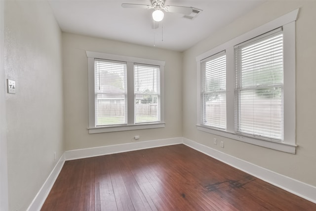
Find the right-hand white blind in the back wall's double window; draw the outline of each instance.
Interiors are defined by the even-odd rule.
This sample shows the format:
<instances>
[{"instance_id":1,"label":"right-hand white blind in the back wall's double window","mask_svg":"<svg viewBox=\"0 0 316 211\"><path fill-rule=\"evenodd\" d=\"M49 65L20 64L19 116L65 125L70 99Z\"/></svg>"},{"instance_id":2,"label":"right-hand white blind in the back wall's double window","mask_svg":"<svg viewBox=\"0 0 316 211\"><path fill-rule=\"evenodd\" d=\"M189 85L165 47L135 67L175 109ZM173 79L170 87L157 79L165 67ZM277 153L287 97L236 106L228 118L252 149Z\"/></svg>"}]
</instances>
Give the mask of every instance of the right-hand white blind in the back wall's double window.
<instances>
[{"instance_id":1,"label":"right-hand white blind in the back wall's double window","mask_svg":"<svg viewBox=\"0 0 316 211\"><path fill-rule=\"evenodd\" d=\"M134 64L135 123L160 121L160 68Z\"/></svg>"}]
</instances>

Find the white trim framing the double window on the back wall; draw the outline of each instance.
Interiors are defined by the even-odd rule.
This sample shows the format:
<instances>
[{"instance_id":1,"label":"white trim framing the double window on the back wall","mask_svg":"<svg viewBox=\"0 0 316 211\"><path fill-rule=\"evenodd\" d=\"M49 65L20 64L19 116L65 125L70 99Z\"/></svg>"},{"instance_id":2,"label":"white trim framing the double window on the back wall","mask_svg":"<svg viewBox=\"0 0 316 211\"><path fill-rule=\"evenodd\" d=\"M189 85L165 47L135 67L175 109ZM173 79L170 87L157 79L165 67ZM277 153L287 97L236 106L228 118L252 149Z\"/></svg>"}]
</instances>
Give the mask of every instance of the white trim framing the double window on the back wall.
<instances>
[{"instance_id":1,"label":"white trim framing the double window on the back wall","mask_svg":"<svg viewBox=\"0 0 316 211\"><path fill-rule=\"evenodd\" d=\"M121 56L115 54L85 51L88 57L88 95L89 95L89 133L114 132L135 129L149 129L165 127L164 123L164 61L144 59L131 56ZM94 100L94 59L107 59L115 61L124 61L127 63L127 105L134 105L134 63L149 64L160 66L160 122L159 123L144 123L134 124L134 106L127 107L128 122L122 126L103 126L95 127L95 100ZM132 71L130 71L132 70ZM129 82L129 83L128 83ZM132 82L132 83L131 83Z\"/></svg>"}]
</instances>

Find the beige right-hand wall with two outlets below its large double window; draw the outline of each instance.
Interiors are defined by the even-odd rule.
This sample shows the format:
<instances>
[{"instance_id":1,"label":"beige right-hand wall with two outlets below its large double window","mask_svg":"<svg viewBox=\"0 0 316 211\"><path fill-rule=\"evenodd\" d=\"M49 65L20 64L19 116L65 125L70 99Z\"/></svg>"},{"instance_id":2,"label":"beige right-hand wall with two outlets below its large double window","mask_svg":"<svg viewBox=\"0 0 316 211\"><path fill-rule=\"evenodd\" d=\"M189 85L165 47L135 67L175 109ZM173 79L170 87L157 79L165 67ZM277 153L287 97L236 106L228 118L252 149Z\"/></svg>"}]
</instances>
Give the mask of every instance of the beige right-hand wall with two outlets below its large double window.
<instances>
[{"instance_id":1,"label":"beige right-hand wall with two outlets below its large double window","mask_svg":"<svg viewBox=\"0 0 316 211\"><path fill-rule=\"evenodd\" d=\"M237 140L198 131L196 56L301 8L296 22L296 143L292 155ZM229 155L316 186L316 1L267 1L244 14L227 27L184 52L183 58L183 136ZM294 93L293 93L294 94ZM225 142L225 148L213 144L213 138Z\"/></svg>"}]
</instances>

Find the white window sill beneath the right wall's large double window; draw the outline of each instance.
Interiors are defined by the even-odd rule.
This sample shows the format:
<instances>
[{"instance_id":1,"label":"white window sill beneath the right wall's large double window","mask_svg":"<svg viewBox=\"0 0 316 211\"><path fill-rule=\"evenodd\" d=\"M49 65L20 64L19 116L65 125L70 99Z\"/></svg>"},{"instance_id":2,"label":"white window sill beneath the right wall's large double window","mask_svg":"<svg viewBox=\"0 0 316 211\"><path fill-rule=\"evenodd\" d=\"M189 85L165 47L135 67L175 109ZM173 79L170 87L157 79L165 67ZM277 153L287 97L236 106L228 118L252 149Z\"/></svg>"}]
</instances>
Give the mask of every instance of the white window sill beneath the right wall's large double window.
<instances>
[{"instance_id":1,"label":"white window sill beneath the right wall's large double window","mask_svg":"<svg viewBox=\"0 0 316 211\"><path fill-rule=\"evenodd\" d=\"M246 142L249 144L254 144L257 146L275 149L278 151L287 152L287 153L291 153L291 154L296 153L296 147L297 147L296 144L288 144L288 143L284 143L284 142L276 142L276 141L269 141L269 140L263 140L263 139L256 139L256 138L251 138L251 137L231 133L231 132L224 131L224 130L217 130L217 129L212 129L212 128L208 128L208 127L203 127L200 125L197 125L197 129L200 131L204 131L204 132L208 132L211 134L223 136L226 138L235 139L238 141Z\"/></svg>"}]
</instances>

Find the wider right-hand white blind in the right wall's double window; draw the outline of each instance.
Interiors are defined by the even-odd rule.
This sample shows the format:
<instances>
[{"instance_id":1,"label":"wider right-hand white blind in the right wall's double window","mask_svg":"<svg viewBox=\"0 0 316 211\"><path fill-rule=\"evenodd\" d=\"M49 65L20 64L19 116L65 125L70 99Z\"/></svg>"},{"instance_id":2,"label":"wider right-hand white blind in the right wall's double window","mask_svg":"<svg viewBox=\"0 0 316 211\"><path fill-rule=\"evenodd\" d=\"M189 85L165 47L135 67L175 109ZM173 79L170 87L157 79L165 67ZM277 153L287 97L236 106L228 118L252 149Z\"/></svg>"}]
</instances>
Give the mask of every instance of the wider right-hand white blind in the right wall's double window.
<instances>
[{"instance_id":1,"label":"wider right-hand white blind in the right wall's double window","mask_svg":"<svg viewBox=\"0 0 316 211\"><path fill-rule=\"evenodd\" d=\"M282 28L235 46L236 131L283 139Z\"/></svg>"}]
</instances>

